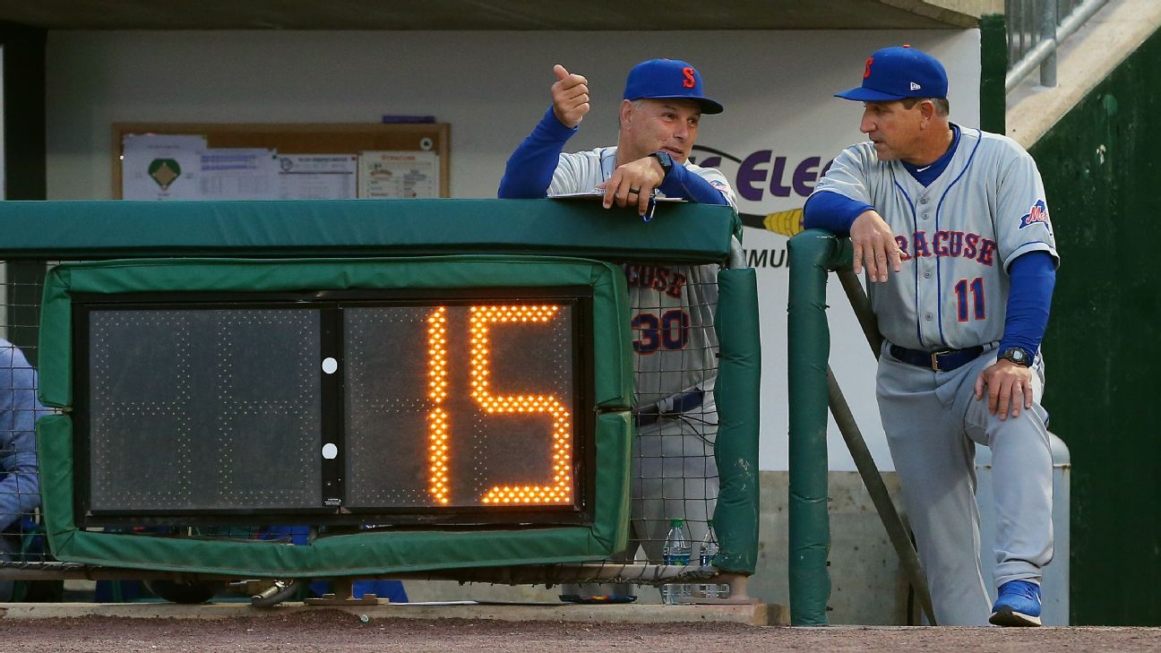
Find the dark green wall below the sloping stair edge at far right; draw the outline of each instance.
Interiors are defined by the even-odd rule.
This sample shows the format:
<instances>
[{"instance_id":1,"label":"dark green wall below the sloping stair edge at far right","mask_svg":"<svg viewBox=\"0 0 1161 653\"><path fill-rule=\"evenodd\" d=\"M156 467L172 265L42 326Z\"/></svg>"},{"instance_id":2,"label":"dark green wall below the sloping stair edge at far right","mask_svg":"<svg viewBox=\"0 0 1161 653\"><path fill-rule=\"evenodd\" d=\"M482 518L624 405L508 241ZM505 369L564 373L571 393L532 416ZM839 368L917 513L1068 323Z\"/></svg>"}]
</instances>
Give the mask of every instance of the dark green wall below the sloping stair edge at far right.
<instances>
[{"instance_id":1,"label":"dark green wall below the sloping stair edge at far right","mask_svg":"<svg viewBox=\"0 0 1161 653\"><path fill-rule=\"evenodd\" d=\"M1161 275L1141 237L1155 229L1161 179L1159 57L1155 31L1029 148L1065 257L1044 404L1075 462L1069 623L1080 625L1161 625L1161 447L1141 409L1161 364L1148 344ZM1132 536L1109 537L1130 523Z\"/></svg>"}]
</instances>

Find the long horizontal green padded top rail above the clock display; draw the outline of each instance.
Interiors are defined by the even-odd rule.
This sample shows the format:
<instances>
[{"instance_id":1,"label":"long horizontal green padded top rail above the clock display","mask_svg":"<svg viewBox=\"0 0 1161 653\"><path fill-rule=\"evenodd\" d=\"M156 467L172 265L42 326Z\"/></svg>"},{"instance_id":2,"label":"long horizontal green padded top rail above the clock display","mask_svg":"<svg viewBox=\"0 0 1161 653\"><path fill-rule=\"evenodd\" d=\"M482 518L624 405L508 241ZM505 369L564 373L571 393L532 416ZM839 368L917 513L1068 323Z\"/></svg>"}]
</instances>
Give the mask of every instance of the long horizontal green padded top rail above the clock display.
<instances>
[{"instance_id":1,"label":"long horizontal green padded top rail above the clock display","mask_svg":"<svg viewBox=\"0 0 1161 653\"><path fill-rule=\"evenodd\" d=\"M575 200L0 202L13 258L419 256L464 252L717 263L740 234L726 206L633 209Z\"/></svg>"}]
</instances>

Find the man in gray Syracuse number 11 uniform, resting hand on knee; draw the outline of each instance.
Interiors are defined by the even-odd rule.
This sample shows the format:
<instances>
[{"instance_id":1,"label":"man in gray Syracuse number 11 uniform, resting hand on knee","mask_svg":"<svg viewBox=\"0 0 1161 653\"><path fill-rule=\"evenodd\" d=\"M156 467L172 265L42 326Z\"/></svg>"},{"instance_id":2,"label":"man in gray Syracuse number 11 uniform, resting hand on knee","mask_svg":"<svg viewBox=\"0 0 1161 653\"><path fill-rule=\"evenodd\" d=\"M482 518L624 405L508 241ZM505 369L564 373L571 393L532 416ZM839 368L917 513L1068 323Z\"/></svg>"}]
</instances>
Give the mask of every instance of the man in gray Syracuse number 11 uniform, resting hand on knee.
<instances>
[{"instance_id":1,"label":"man in gray Syracuse number 11 uniform, resting hand on knee","mask_svg":"<svg viewBox=\"0 0 1161 653\"><path fill-rule=\"evenodd\" d=\"M1059 264L1036 163L949 120L947 76L903 45L863 84L870 141L843 150L806 204L850 236L885 342L877 396L940 625L1040 625L1052 559L1052 454L1040 340ZM991 449L998 598L980 567L974 443Z\"/></svg>"}]
</instances>

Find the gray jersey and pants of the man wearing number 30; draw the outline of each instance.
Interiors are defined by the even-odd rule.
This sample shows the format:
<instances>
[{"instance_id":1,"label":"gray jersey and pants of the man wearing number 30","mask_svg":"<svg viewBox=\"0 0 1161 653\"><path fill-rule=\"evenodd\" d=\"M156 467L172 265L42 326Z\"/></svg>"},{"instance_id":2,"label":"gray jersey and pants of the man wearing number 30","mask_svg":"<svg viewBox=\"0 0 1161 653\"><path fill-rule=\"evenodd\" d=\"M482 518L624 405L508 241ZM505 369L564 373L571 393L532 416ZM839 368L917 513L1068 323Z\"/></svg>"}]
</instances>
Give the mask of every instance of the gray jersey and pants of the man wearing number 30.
<instances>
[{"instance_id":1,"label":"gray jersey and pants of the man wearing number 30","mask_svg":"<svg viewBox=\"0 0 1161 653\"><path fill-rule=\"evenodd\" d=\"M737 208L734 191L714 168L686 170L719 188ZM616 170L616 148L562 153L549 195L592 191ZM664 220L664 217L659 217ZM639 407L671 411L675 395L697 387L704 403L676 418L639 425L633 440L629 510L636 540L659 562L669 519L684 518L694 541L706 533L717 498L717 436L713 385L717 374L716 265L626 264Z\"/></svg>"}]
</instances>

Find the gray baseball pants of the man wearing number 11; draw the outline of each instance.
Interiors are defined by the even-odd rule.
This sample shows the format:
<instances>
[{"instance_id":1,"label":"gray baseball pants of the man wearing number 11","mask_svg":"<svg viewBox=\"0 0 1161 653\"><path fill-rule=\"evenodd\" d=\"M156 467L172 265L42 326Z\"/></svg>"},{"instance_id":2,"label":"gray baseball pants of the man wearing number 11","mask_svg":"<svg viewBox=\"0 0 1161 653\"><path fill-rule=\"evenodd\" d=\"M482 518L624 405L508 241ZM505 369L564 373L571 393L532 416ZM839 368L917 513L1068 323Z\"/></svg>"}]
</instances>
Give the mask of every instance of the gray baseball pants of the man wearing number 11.
<instances>
[{"instance_id":1,"label":"gray baseball pants of the man wearing number 11","mask_svg":"<svg viewBox=\"0 0 1161 653\"><path fill-rule=\"evenodd\" d=\"M878 400L887 444L939 625L987 625L991 607L980 566L975 446L991 449L996 587L1040 582L1052 559L1052 451L1046 426L1044 361L1033 361L1031 410L1001 421L988 412L975 379L995 351L951 372L902 363L884 343Z\"/></svg>"}]
</instances>

